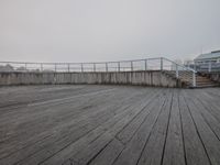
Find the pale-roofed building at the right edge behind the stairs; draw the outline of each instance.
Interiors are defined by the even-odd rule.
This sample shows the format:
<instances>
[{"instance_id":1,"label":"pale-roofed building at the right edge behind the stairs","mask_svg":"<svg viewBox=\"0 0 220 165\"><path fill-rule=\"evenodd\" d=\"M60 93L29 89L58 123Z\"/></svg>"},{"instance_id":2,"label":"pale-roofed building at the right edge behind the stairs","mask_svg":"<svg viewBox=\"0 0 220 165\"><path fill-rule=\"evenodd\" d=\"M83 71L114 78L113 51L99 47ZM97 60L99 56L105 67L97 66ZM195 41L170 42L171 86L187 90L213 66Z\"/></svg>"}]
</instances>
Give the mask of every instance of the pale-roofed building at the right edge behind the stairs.
<instances>
[{"instance_id":1,"label":"pale-roofed building at the right edge behind the stairs","mask_svg":"<svg viewBox=\"0 0 220 165\"><path fill-rule=\"evenodd\" d=\"M220 63L220 51L213 51L211 53L201 54L194 59L196 65L208 63Z\"/></svg>"}]
</instances>

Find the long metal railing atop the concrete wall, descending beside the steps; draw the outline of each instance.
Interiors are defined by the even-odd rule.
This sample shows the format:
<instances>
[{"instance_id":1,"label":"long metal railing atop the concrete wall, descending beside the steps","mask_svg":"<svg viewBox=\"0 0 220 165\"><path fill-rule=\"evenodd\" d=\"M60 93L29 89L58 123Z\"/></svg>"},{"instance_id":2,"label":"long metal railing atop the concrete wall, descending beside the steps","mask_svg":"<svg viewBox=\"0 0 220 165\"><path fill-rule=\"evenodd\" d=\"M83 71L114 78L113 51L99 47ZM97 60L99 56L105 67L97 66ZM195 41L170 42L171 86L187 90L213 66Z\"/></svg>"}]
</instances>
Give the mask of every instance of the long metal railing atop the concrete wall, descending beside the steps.
<instances>
[{"instance_id":1,"label":"long metal railing atop the concrete wall, descending beside the steps","mask_svg":"<svg viewBox=\"0 0 220 165\"><path fill-rule=\"evenodd\" d=\"M164 57L99 63L23 63L0 62L0 72L19 73L110 73L163 70L196 86L196 72Z\"/></svg>"}]
</instances>

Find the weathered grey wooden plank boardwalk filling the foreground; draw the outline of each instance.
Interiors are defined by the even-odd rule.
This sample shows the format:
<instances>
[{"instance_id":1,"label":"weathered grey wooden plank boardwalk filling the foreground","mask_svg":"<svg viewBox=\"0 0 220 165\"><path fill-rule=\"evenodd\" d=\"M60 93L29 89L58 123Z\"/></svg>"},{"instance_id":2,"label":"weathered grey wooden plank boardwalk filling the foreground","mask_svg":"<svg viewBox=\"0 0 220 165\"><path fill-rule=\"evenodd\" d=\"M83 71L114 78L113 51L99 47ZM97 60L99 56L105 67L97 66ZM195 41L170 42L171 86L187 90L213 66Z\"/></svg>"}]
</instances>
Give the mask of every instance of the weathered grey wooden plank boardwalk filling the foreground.
<instances>
[{"instance_id":1,"label":"weathered grey wooden plank boardwalk filling the foreground","mask_svg":"<svg viewBox=\"0 0 220 165\"><path fill-rule=\"evenodd\" d=\"M0 165L220 165L220 88L0 88Z\"/></svg>"}]
</instances>

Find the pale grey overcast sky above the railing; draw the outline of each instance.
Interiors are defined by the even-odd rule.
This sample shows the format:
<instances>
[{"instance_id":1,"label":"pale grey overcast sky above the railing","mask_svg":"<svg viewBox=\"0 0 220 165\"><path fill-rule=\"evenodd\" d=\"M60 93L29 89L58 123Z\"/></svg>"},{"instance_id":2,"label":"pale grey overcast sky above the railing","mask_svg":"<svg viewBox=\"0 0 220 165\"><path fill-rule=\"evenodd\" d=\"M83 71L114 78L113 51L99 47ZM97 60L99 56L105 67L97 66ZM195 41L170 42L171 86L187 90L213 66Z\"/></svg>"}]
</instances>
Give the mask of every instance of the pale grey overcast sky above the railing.
<instances>
[{"instance_id":1,"label":"pale grey overcast sky above the railing","mask_svg":"<svg viewBox=\"0 0 220 165\"><path fill-rule=\"evenodd\" d=\"M193 58L220 50L220 0L0 0L0 61Z\"/></svg>"}]
</instances>

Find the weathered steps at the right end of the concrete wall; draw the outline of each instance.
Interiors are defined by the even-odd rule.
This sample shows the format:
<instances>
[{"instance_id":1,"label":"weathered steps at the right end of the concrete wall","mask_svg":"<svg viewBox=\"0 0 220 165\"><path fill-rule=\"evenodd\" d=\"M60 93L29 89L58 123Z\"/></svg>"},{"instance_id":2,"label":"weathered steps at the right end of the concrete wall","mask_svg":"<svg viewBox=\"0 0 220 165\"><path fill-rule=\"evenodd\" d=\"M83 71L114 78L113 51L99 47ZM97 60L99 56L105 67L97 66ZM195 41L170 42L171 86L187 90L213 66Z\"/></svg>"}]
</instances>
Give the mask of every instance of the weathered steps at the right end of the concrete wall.
<instances>
[{"instance_id":1,"label":"weathered steps at the right end of the concrete wall","mask_svg":"<svg viewBox=\"0 0 220 165\"><path fill-rule=\"evenodd\" d=\"M164 73L173 78L176 78L176 72L175 70L164 70ZM191 73L187 72L187 70L182 70L178 73L178 79L180 80L180 82L188 88L207 88L207 87L218 87L219 84L212 81L211 79L209 79L206 76L202 76L200 74L196 74L196 86L193 86L193 75Z\"/></svg>"}]
</instances>

